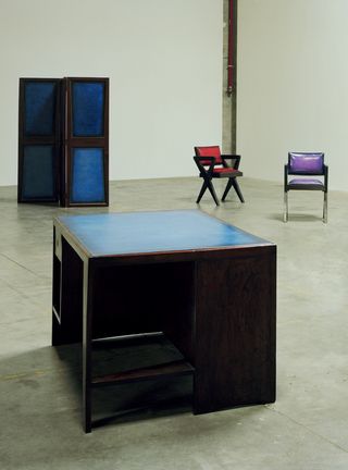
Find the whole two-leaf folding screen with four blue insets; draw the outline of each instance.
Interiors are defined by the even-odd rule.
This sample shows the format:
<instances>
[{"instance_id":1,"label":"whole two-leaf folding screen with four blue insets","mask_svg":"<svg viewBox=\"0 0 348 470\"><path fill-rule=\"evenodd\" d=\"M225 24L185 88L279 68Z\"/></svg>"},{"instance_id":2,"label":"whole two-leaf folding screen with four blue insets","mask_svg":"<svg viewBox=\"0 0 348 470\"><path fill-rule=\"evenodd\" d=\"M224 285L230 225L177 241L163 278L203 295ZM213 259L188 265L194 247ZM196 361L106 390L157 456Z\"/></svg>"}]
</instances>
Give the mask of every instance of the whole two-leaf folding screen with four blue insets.
<instances>
[{"instance_id":1,"label":"whole two-leaf folding screen with four blue insets","mask_svg":"<svg viewBox=\"0 0 348 470\"><path fill-rule=\"evenodd\" d=\"M109 79L21 78L18 202L109 203Z\"/></svg>"}]
</instances>

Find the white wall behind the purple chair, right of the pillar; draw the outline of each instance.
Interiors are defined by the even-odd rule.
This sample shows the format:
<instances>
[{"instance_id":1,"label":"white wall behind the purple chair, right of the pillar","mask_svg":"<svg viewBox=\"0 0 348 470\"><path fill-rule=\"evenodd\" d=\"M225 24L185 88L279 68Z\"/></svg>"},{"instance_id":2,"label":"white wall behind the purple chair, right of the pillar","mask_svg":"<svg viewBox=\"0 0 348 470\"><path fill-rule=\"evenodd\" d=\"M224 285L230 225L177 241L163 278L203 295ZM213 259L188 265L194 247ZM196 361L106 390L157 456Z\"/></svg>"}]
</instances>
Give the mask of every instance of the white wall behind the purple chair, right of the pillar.
<instances>
[{"instance_id":1,"label":"white wall behind the purple chair, right of the pillar","mask_svg":"<svg viewBox=\"0 0 348 470\"><path fill-rule=\"evenodd\" d=\"M324 151L348 190L348 1L238 0L237 149L283 181L289 150Z\"/></svg>"}]
</instances>

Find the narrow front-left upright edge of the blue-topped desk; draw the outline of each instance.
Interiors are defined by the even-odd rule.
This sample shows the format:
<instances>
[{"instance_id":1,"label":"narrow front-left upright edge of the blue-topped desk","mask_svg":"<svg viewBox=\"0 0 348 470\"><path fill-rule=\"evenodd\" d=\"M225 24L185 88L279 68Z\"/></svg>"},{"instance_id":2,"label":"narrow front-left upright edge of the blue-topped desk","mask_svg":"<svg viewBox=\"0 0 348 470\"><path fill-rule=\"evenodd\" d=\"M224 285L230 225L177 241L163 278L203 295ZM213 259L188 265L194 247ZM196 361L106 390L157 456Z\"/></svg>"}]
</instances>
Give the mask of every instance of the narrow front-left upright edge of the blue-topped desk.
<instances>
[{"instance_id":1,"label":"narrow front-left upright edge of the blue-topped desk","mask_svg":"<svg viewBox=\"0 0 348 470\"><path fill-rule=\"evenodd\" d=\"M84 261L83 300L83 407L85 432L91 432L91 325L92 325L94 270Z\"/></svg>"}]
</instances>

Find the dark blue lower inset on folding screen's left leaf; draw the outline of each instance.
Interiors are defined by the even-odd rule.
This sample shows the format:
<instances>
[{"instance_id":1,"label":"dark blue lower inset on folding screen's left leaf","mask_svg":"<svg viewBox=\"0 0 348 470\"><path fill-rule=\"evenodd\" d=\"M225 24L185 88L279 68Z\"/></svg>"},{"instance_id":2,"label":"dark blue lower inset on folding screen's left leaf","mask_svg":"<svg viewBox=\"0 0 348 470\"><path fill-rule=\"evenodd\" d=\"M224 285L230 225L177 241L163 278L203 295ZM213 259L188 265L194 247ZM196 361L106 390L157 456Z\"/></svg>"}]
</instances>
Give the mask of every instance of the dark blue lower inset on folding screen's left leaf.
<instances>
[{"instance_id":1,"label":"dark blue lower inset on folding screen's left leaf","mask_svg":"<svg viewBox=\"0 0 348 470\"><path fill-rule=\"evenodd\" d=\"M24 146L22 171L23 199L55 199L53 146Z\"/></svg>"}]
</instances>

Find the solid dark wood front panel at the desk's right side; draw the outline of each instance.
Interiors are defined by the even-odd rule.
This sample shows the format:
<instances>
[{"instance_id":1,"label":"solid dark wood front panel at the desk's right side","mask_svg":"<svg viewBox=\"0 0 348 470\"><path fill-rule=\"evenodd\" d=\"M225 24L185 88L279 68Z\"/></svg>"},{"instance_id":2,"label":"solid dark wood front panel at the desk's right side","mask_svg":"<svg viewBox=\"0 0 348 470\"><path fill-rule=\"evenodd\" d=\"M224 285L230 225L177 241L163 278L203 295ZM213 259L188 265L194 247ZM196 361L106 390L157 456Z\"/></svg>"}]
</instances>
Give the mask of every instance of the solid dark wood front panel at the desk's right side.
<instances>
[{"instance_id":1,"label":"solid dark wood front panel at the desk's right side","mask_svg":"<svg viewBox=\"0 0 348 470\"><path fill-rule=\"evenodd\" d=\"M275 400L275 247L197 264L194 411Z\"/></svg>"}]
</instances>

